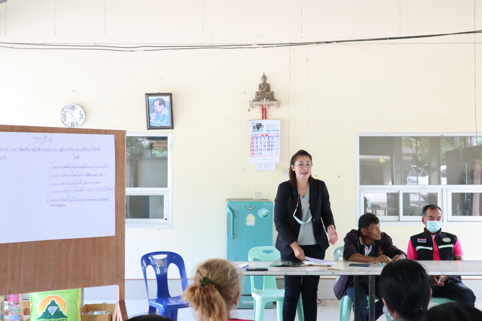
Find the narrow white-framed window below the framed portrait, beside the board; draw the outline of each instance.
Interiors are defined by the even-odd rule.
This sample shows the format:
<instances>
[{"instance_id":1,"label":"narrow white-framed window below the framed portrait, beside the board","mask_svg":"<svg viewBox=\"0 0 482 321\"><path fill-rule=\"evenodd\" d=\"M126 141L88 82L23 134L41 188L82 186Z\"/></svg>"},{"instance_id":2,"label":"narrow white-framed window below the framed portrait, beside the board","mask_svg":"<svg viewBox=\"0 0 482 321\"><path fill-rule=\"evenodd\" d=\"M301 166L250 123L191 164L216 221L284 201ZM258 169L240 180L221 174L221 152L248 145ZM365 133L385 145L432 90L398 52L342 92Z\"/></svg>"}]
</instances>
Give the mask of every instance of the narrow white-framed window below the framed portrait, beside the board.
<instances>
[{"instance_id":1,"label":"narrow white-framed window below the framed portrait, beside the board","mask_svg":"<svg viewBox=\"0 0 482 321\"><path fill-rule=\"evenodd\" d=\"M172 227L172 134L127 133L127 228Z\"/></svg>"}]
</instances>

